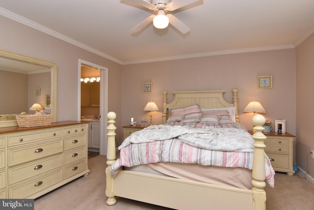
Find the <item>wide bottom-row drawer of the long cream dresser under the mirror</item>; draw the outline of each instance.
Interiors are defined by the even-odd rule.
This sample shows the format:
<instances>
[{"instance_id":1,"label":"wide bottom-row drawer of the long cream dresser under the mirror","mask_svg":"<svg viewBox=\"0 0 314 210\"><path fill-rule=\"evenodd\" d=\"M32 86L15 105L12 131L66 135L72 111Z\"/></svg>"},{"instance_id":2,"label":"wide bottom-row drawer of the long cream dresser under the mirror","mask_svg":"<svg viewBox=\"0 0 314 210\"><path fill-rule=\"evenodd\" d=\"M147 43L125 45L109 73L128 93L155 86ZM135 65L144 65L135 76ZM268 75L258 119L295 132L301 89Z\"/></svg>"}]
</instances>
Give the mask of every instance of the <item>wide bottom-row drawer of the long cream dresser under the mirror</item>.
<instances>
[{"instance_id":1,"label":"wide bottom-row drawer of the long cream dresser under the mirror","mask_svg":"<svg viewBox=\"0 0 314 210\"><path fill-rule=\"evenodd\" d=\"M35 194L41 190L44 190L53 184L57 184L62 181L62 170L55 170L49 173L44 174L43 176L32 179L28 182L24 182L22 184L16 184L14 186L10 186L9 198L27 198L32 194Z\"/></svg>"}]
</instances>

